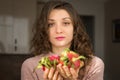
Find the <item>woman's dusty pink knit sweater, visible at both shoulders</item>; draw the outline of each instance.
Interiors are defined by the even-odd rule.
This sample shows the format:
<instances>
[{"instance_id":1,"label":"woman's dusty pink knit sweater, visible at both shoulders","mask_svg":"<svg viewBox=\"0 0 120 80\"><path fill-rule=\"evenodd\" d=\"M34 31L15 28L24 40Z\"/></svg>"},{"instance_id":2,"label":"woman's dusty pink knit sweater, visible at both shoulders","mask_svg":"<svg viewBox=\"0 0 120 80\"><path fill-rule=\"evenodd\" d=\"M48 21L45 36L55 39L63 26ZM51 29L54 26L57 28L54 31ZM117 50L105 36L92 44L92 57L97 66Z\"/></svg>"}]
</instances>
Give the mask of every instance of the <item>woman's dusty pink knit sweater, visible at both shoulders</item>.
<instances>
[{"instance_id":1,"label":"woman's dusty pink knit sweater, visible at both shoulders","mask_svg":"<svg viewBox=\"0 0 120 80\"><path fill-rule=\"evenodd\" d=\"M50 55L50 54L48 54ZM33 70L37 66L40 58L44 55L39 55L26 59L21 68L21 80L44 80L42 69ZM94 56L90 65L87 66L86 74L83 80L103 80L104 77L104 63Z\"/></svg>"}]
</instances>

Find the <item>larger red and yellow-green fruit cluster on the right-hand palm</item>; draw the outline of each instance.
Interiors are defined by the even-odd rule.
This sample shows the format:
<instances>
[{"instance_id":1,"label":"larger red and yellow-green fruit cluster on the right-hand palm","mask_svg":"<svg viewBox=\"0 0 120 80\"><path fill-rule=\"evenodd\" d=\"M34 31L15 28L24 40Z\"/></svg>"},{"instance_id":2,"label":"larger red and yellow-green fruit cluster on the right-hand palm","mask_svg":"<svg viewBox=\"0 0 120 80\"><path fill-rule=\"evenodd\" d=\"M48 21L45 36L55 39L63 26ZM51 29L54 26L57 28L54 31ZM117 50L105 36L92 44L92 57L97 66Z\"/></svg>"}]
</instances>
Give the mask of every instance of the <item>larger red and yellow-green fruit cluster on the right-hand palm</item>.
<instances>
[{"instance_id":1,"label":"larger red and yellow-green fruit cluster on the right-hand palm","mask_svg":"<svg viewBox=\"0 0 120 80\"><path fill-rule=\"evenodd\" d=\"M81 61L84 60L84 56L79 56L74 51L71 51L70 49L65 49L60 56L60 61L62 65L66 65L68 67L73 67L75 69L82 67L83 64L81 65ZM82 61L83 62L83 61Z\"/></svg>"}]
</instances>

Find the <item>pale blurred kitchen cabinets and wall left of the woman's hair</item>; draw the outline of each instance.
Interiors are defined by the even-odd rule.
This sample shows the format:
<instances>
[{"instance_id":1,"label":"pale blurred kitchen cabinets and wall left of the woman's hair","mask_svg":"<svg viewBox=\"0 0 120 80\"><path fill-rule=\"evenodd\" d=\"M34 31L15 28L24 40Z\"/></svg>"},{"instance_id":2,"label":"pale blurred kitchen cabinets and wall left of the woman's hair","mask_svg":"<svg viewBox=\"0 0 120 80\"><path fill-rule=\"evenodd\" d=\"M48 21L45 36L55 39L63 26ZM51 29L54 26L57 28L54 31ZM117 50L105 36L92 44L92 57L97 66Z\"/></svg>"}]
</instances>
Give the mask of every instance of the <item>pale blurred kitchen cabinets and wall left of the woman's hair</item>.
<instances>
[{"instance_id":1,"label":"pale blurred kitchen cabinets and wall left of the woman's hair","mask_svg":"<svg viewBox=\"0 0 120 80\"><path fill-rule=\"evenodd\" d=\"M7 53L28 53L35 0L0 0L0 42ZM17 44L14 43L17 39ZM17 51L14 47L17 46Z\"/></svg>"}]
</instances>

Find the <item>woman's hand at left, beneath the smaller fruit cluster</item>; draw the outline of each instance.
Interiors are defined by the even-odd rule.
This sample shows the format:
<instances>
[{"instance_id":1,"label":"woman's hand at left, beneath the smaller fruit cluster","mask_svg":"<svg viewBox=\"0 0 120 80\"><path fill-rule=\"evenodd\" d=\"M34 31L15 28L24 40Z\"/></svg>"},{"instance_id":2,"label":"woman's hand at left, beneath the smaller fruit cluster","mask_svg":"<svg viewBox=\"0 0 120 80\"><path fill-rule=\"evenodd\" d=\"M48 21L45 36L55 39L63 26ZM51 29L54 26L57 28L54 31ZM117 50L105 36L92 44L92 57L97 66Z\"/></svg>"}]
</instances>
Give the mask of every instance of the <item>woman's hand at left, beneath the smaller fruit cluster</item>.
<instances>
[{"instance_id":1,"label":"woman's hand at left, beneath the smaller fruit cluster","mask_svg":"<svg viewBox=\"0 0 120 80\"><path fill-rule=\"evenodd\" d=\"M44 71L44 80L63 80L63 77L59 74L59 72L51 67L50 69L46 68Z\"/></svg>"}]
</instances>

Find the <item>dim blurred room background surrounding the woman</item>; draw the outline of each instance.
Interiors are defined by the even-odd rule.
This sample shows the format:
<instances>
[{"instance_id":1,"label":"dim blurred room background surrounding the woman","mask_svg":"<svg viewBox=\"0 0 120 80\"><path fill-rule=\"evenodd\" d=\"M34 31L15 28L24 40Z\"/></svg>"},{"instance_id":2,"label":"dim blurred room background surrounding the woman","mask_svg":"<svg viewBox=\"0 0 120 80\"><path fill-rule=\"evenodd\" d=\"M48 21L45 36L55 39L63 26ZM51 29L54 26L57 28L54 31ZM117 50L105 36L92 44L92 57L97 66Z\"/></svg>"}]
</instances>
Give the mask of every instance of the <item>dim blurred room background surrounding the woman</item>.
<instances>
[{"instance_id":1,"label":"dim blurred room background surrounding the woman","mask_svg":"<svg viewBox=\"0 0 120 80\"><path fill-rule=\"evenodd\" d=\"M30 54L32 27L49 0L0 0L0 79L20 80ZM120 80L120 0L65 0L82 18L95 55L105 63L104 80Z\"/></svg>"}]
</instances>

